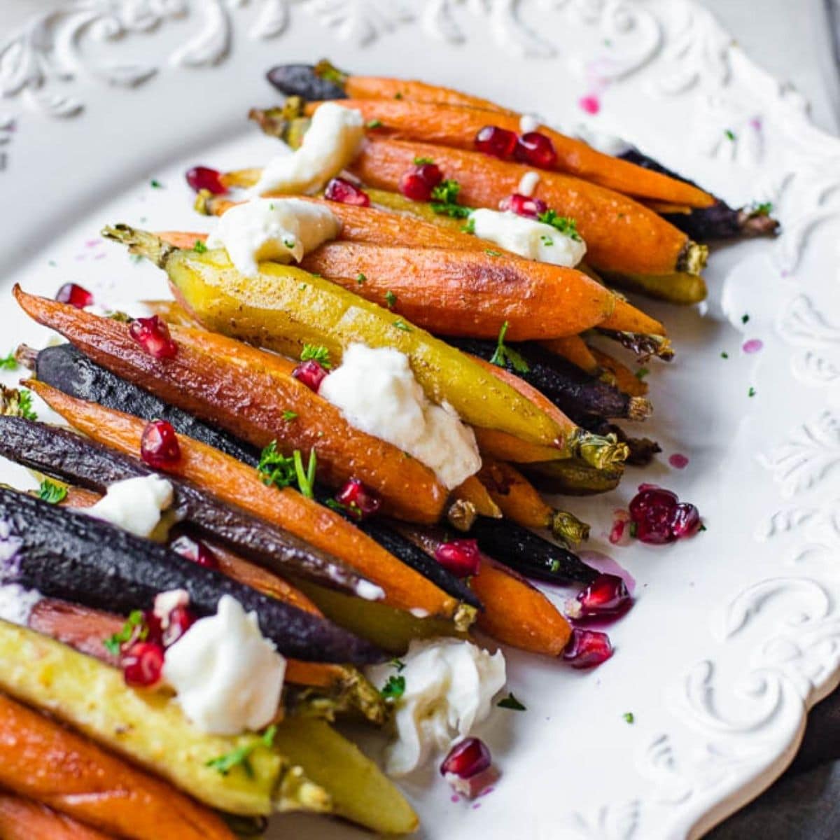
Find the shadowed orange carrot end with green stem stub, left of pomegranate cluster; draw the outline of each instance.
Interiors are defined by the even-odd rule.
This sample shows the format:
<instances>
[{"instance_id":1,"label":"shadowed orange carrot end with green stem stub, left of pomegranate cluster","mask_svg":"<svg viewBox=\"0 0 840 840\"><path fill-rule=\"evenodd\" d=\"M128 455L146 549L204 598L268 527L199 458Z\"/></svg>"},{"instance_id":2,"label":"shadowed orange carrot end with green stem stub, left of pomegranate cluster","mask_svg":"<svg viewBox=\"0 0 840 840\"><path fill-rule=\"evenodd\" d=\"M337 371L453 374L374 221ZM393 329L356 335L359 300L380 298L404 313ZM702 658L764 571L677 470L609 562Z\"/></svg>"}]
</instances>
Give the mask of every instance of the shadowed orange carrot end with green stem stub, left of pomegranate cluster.
<instances>
[{"instance_id":1,"label":"shadowed orange carrot end with green stem stub, left of pomegranate cluster","mask_svg":"<svg viewBox=\"0 0 840 840\"><path fill-rule=\"evenodd\" d=\"M479 480L501 512L525 528L549 528L566 543L580 543L589 536L589 526L571 513L551 507L537 488L519 470L503 461L485 459Z\"/></svg>"}]
</instances>

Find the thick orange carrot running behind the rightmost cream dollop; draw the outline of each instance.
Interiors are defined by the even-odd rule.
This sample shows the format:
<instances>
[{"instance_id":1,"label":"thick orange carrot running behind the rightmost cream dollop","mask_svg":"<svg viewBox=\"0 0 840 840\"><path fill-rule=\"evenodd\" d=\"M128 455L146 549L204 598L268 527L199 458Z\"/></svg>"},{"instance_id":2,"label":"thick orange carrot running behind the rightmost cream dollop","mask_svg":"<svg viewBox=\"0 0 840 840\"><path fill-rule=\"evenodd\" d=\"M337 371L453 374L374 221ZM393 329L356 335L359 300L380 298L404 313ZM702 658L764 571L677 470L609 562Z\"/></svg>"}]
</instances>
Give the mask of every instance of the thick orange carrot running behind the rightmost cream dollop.
<instances>
[{"instance_id":1,"label":"thick orange carrot running behind the rightmost cream dollop","mask_svg":"<svg viewBox=\"0 0 840 840\"><path fill-rule=\"evenodd\" d=\"M491 207L518 192L528 166L496 160L479 152L431 144L370 138L350 170L370 186L397 190L414 158L434 160L444 176L461 185L459 201ZM596 269L655 275L676 270L688 238L633 199L557 172L544 172L533 195L577 222L586 241L587 260Z\"/></svg>"}]
</instances>

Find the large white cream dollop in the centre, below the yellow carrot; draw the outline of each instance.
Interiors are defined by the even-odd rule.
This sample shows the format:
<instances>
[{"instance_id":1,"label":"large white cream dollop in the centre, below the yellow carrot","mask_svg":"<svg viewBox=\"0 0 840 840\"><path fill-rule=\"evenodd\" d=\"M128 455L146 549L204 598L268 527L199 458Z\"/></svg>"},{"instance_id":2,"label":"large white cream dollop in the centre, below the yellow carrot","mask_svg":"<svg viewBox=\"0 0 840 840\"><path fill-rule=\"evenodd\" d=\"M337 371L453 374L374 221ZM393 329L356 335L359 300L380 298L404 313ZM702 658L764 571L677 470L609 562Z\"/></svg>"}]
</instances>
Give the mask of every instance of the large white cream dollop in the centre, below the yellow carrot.
<instances>
[{"instance_id":1,"label":"large white cream dollop in the centre, below the yellow carrot","mask_svg":"<svg viewBox=\"0 0 840 840\"><path fill-rule=\"evenodd\" d=\"M351 426L412 455L449 490L480 470L473 430L448 403L429 402L399 350L351 344L318 393Z\"/></svg>"}]
</instances>

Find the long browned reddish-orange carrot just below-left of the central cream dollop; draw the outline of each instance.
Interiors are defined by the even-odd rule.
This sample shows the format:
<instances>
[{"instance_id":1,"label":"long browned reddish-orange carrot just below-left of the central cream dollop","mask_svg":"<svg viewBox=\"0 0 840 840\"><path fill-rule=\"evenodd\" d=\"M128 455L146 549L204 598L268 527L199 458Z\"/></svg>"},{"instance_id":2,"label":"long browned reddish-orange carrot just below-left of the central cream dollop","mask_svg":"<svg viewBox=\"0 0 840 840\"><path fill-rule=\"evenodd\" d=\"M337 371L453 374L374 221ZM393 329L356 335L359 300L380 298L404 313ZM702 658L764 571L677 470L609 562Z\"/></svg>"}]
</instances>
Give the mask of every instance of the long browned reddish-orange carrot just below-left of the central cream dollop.
<instances>
[{"instance_id":1,"label":"long browned reddish-orange carrot just below-left of the central cream dollop","mask_svg":"<svg viewBox=\"0 0 840 840\"><path fill-rule=\"evenodd\" d=\"M432 470L352 427L336 407L291 375L293 364L189 328L172 328L179 348L174 358L155 359L131 338L127 324L19 288L15 296L36 321L165 402L218 423L260 449L276 441L286 455L300 449L306 459L314 451L318 477L327 484L360 478L379 493L386 508L408 520L435 522L443 512L448 493ZM290 411L295 415L291 420L286 419Z\"/></svg>"}]
</instances>

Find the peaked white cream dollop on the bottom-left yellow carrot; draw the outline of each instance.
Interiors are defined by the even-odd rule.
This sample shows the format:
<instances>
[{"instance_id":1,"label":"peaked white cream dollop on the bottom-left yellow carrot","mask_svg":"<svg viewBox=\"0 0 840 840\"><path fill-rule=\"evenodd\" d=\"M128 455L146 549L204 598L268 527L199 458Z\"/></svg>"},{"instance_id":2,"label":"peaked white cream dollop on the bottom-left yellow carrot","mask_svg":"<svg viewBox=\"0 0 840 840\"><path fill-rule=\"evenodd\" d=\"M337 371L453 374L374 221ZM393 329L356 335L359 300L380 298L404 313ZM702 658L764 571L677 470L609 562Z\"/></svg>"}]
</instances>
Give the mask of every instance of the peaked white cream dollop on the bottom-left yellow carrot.
<instances>
[{"instance_id":1,"label":"peaked white cream dollop on the bottom-left yellow carrot","mask_svg":"<svg viewBox=\"0 0 840 840\"><path fill-rule=\"evenodd\" d=\"M166 648L163 676L176 702L203 732L238 735L276 716L286 659L260 633L255 612L223 595L215 616L200 618Z\"/></svg>"}]
</instances>

